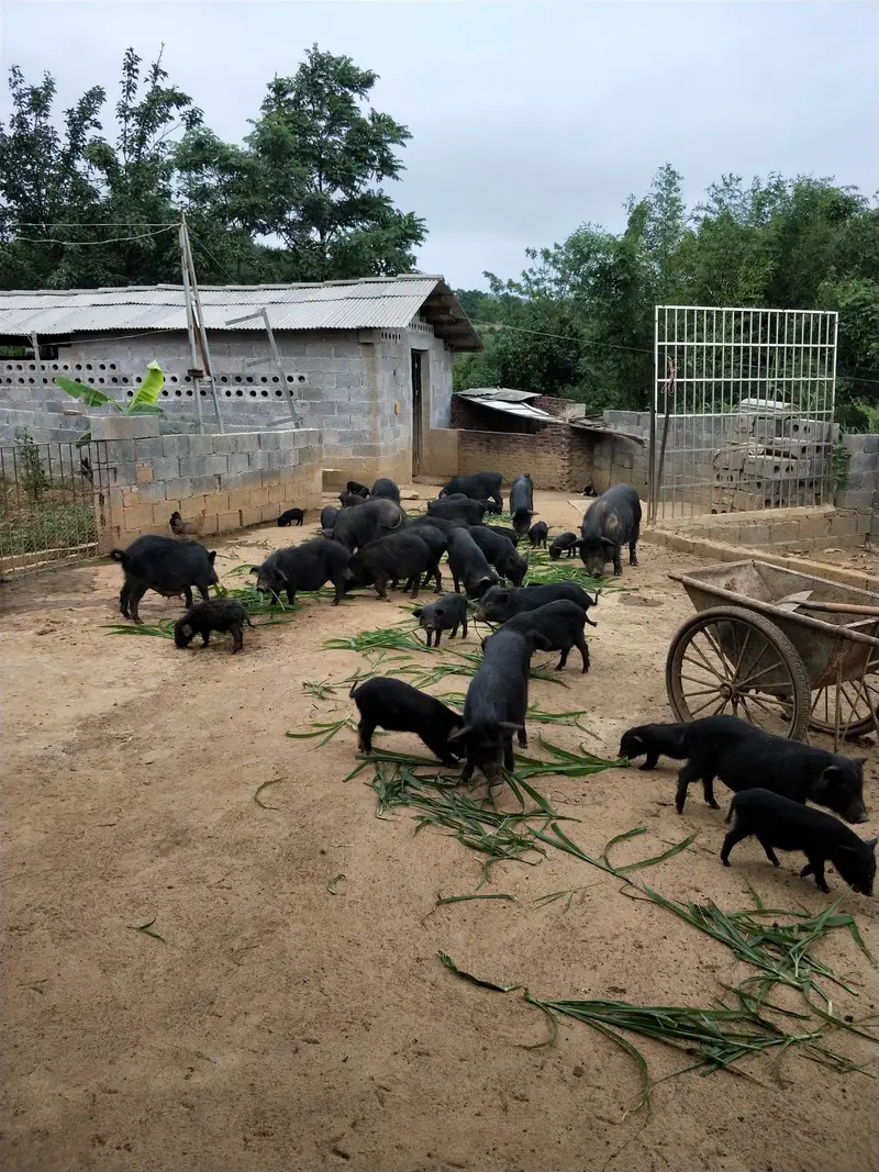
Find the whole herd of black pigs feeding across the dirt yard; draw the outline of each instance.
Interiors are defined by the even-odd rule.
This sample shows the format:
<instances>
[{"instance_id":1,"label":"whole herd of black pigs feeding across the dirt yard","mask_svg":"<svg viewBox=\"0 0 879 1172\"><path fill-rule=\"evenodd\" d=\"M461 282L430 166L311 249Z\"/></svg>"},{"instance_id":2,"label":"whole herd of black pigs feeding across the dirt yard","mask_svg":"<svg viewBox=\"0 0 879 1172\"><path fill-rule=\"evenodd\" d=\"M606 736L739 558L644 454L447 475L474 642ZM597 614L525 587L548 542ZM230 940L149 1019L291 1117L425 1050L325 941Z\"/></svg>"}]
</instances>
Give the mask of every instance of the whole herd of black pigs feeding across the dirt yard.
<instances>
[{"instance_id":1,"label":"whole herd of black pigs feeding across the dirt yard","mask_svg":"<svg viewBox=\"0 0 879 1172\"><path fill-rule=\"evenodd\" d=\"M590 668L585 626L595 624L588 609L598 602L575 582L523 587L527 557L518 550L529 538L532 548L546 547L544 523L534 516L533 484L518 476L510 490L512 527L486 525L486 513L503 511L499 472L456 476L428 504L424 516L408 519L397 485L387 478L372 489L349 481L340 495L340 507L321 512L321 536L298 546L275 550L260 566L252 566L260 592L292 604L298 591L315 591L332 582L338 605L345 594L374 586L379 598L404 582L411 598L434 581L441 597L416 609L427 643L440 645L443 631L455 638L468 634L468 600L476 618L499 626L483 641L483 659L466 691L463 715L435 697L391 677L374 677L352 688L360 714L361 750L372 751L376 727L417 734L444 765L463 763L462 782L478 770L489 786L503 784L503 771L513 769L513 736L527 747L525 715L529 670L536 650L558 650L558 669L577 648L581 670ZM304 520L302 511L282 513L280 526ZM554 560L579 556L587 572L602 577L606 564L622 573L621 550L628 545L629 565L638 565L641 505L638 493L618 484L597 497L584 517L580 536L566 532L548 546ZM448 557L455 593L443 593L440 560ZM122 564L124 582L120 609L139 622L138 605L148 590L165 597L183 594L186 614L175 625L175 642L186 647L197 635L206 645L211 632L230 632L233 652L243 647L248 624L237 601L210 599L218 582L216 553L197 541L141 537L128 550L114 550ZM196 587L203 602L192 604ZM734 716L709 716L690 724L646 724L629 729L620 743L620 757L645 756L642 769L653 769L660 756L684 761L680 771L676 809L681 813L690 782L701 781L709 806L717 809L714 779L734 791L721 860L729 866L736 843L756 837L769 860L778 866L775 850L799 851L806 857L800 875L812 874L827 891L825 864L830 860L854 890L872 894L877 839L864 841L832 815L806 805L813 802L846 822L866 822L863 769L865 758L850 759L812 745L765 732Z\"/></svg>"}]
</instances>

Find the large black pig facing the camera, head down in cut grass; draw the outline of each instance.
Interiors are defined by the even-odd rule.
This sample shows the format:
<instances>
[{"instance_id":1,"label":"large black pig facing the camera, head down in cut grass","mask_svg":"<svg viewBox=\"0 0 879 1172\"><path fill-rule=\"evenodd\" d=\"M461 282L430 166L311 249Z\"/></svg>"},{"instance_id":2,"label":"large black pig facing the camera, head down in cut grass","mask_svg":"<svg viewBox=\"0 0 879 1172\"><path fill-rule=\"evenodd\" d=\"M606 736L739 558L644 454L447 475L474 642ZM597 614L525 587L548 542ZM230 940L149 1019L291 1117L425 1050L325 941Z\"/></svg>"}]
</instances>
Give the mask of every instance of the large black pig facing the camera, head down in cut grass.
<instances>
[{"instance_id":1,"label":"large black pig facing the camera, head down in cut grass","mask_svg":"<svg viewBox=\"0 0 879 1172\"><path fill-rule=\"evenodd\" d=\"M536 631L498 631L485 640L482 665L466 689L464 723L450 737L466 747L462 782L478 769L490 786L499 785L502 770L513 769L513 732L527 748L529 666L537 649L547 646Z\"/></svg>"}]
</instances>

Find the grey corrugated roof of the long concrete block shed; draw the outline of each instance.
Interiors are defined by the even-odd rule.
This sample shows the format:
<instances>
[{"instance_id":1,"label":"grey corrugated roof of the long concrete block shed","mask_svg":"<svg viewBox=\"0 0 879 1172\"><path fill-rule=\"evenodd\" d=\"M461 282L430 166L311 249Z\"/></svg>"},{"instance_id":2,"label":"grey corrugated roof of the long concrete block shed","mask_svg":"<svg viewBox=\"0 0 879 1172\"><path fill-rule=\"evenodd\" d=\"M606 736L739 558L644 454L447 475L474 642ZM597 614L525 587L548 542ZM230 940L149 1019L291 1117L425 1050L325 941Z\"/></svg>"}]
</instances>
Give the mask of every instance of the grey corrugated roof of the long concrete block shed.
<instances>
[{"instance_id":1,"label":"grey corrugated roof of the long concrete block shed","mask_svg":"<svg viewBox=\"0 0 879 1172\"><path fill-rule=\"evenodd\" d=\"M209 285L199 288L209 329L404 329L420 314L458 350L482 349L458 299L442 277L420 273L314 285ZM0 292L0 334L42 338L104 331L185 329L182 285Z\"/></svg>"}]
</instances>

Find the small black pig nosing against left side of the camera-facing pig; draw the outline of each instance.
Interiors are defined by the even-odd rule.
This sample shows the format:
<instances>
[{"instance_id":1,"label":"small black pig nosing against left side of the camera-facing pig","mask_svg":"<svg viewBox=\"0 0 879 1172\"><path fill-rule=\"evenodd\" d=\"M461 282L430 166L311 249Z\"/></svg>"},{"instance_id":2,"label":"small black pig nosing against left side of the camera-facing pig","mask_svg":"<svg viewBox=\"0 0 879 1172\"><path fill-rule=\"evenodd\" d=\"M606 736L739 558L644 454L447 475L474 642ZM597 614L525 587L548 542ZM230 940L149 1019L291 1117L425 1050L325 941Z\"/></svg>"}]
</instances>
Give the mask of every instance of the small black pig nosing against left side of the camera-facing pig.
<instances>
[{"instance_id":1,"label":"small black pig nosing against left side of the camera-facing pig","mask_svg":"<svg viewBox=\"0 0 879 1172\"><path fill-rule=\"evenodd\" d=\"M451 737L464 723L463 718L434 696L387 676L355 683L348 695L360 713L361 752L373 751L373 732L383 728L391 732L416 732L444 765L451 769L457 765L461 749L451 743Z\"/></svg>"}]
</instances>

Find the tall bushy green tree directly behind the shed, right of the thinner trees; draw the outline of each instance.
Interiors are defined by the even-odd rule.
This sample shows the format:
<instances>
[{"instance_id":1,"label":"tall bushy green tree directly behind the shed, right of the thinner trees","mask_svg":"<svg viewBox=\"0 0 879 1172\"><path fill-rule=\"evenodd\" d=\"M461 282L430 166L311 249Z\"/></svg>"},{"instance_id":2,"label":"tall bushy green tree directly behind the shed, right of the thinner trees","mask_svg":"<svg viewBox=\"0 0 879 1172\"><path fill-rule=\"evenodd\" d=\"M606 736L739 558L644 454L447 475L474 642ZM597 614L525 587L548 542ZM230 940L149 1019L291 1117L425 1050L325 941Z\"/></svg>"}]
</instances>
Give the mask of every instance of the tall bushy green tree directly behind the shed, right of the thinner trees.
<instances>
[{"instance_id":1,"label":"tall bushy green tree directly behind the shed, right of the thinner trees","mask_svg":"<svg viewBox=\"0 0 879 1172\"><path fill-rule=\"evenodd\" d=\"M227 227L279 238L291 278L328 280L406 272L424 222L397 211L381 184L403 170L411 137L363 110L377 81L350 57L313 46L291 77L274 77L245 146L197 131L178 152L183 190Z\"/></svg>"}]
</instances>

